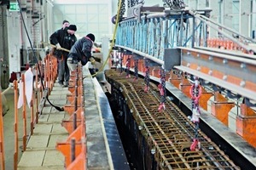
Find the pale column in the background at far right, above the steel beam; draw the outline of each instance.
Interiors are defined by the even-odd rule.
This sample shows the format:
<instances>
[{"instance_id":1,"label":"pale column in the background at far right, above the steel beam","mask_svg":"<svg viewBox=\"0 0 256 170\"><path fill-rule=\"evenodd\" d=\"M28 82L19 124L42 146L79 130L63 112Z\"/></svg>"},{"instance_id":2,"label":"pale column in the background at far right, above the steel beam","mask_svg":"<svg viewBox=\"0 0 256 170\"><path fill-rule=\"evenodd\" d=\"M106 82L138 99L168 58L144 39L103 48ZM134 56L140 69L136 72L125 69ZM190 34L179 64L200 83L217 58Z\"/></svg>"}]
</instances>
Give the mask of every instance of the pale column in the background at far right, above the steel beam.
<instances>
[{"instance_id":1,"label":"pale column in the background at far right, above the steel beam","mask_svg":"<svg viewBox=\"0 0 256 170\"><path fill-rule=\"evenodd\" d=\"M240 25L239 25L239 32L243 36L250 36L248 32L249 26L249 14L251 13L251 0L242 0L240 1Z\"/></svg>"}]
</instances>

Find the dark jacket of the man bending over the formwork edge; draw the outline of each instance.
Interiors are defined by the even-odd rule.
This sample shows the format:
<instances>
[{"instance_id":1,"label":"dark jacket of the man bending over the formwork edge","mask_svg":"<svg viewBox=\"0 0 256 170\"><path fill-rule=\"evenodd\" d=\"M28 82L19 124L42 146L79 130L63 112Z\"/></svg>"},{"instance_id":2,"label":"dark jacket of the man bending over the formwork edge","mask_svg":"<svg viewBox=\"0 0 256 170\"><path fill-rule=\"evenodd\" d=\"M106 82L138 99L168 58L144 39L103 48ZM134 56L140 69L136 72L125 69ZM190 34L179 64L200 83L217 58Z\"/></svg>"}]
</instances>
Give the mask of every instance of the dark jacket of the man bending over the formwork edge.
<instances>
[{"instance_id":1,"label":"dark jacket of the man bending over the formwork edge","mask_svg":"<svg viewBox=\"0 0 256 170\"><path fill-rule=\"evenodd\" d=\"M73 44L73 47L68 54L68 58L73 58L73 61L81 61L82 65L86 65L91 57L90 52L92 46L93 42L89 38L82 37Z\"/></svg>"}]
</instances>

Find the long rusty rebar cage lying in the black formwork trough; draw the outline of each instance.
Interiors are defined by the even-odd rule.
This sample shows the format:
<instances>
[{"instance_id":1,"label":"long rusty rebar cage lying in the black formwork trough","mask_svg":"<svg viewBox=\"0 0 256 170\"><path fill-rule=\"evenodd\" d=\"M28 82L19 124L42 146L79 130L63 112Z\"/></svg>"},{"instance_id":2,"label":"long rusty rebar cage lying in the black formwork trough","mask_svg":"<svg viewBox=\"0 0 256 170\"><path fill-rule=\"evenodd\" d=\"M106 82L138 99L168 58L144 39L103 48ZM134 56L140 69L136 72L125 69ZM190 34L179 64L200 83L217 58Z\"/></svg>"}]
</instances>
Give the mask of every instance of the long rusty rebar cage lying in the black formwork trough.
<instances>
[{"instance_id":1,"label":"long rusty rebar cage lying in the black formwork trough","mask_svg":"<svg viewBox=\"0 0 256 170\"><path fill-rule=\"evenodd\" d=\"M106 71L106 77L124 95L160 169L240 169L200 130L201 149L190 150L194 123L168 99L166 110L158 111L160 95L153 83L145 93L143 79L133 82L113 70Z\"/></svg>"}]
</instances>

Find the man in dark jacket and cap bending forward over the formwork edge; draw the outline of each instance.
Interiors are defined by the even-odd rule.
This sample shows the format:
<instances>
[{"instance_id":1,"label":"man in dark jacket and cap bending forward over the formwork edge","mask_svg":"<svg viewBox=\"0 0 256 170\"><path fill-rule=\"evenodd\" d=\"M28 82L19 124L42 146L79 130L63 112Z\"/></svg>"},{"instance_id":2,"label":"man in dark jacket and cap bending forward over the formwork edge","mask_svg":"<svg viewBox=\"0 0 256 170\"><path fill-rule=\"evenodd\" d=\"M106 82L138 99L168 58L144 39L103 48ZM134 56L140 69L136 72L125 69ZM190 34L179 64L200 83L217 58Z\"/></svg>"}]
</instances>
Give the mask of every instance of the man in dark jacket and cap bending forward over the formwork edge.
<instances>
[{"instance_id":1,"label":"man in dark jacket and cap bending forward over the formwork edge","mask_svg":"<svg viewBox=\"0 0 256 170\"><path fill-rule=\"evenodd\" d=\"M90 60L90 62L94 64L95 59L91 55L93 42L95 42L95 36L91 33L75 42L67 57L69 71L74 71L78 62L81 62L82 65L86 65Z\"/></svg>"}]
</instances>

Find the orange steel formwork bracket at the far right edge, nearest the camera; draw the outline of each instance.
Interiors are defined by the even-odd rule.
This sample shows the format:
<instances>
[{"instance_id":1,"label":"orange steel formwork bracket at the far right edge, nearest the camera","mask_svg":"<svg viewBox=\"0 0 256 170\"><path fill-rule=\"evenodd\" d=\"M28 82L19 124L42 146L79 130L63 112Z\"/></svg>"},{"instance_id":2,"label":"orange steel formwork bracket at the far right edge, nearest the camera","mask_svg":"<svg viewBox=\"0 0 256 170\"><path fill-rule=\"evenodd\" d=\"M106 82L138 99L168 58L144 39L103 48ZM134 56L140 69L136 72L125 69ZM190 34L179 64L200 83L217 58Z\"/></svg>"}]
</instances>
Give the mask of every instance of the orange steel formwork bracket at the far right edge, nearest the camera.
<instances>
[{"instance_id":1,"label":"orange steel formwork bracket at the far right edge, nearest the camera","mask_svg":"<svg viewBox=\"0 0 256 170\"><path fill-rule=\"evenodd\" d=\"M236 133L256 147L256 113L245 104L240 105L241 115L236 116Z\"/></svg>"}]
</instances>

